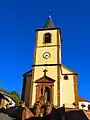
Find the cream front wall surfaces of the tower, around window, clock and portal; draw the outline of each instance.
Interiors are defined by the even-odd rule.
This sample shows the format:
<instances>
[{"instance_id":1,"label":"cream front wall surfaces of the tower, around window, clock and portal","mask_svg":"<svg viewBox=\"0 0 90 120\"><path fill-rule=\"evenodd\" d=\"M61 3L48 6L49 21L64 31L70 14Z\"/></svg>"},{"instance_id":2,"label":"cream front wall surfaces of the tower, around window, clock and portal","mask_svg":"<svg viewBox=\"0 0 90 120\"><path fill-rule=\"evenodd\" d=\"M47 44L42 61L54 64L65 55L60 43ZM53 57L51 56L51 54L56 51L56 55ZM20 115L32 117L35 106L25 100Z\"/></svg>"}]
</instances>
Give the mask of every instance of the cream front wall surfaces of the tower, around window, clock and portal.
<instances>
[{"instance_id":1,"label":"cream front wall surfaces of the tower, around window, clock and portal","mask_svg":"<svg viewBox=\"0 0 90 120\"><path fill-rule=\"evenodd\" d=\"M48 44L44 44L43 40L43 36L45 33L51 33L51 43ZM58 30L42 30L42 31L38 31L37 32L37 45L36 45L36 56L35 56L35 63L36 65L40 65L40 64L57 64L57 58L58 53L57 53L57 45L58 45L58 39L59 39L59 45L61 47L61 42L60 42L60 33L58 32ZM50 47L47 47L49 46ZM53 46L56 45L56 46ZM42 47L44 46L44 47ZM45 52L49 52L51 54L49 59L44 59L43 58L43 54ZM60 59L61 59L61 48L60 48ZM61 61L61 60L60 60ZM35 82L37 79L43 77L44 73L43 70L47 69L47 76L54 79L55 83L54 83L54 105L57 105L57 66L39 66L39 67L35 67L34 69L34 79L33 82ZM36 96L36 84L34 83L33 85L33 97L32 97L32 104L35 103L35 96Z\"/></svg>"}]
</instances>

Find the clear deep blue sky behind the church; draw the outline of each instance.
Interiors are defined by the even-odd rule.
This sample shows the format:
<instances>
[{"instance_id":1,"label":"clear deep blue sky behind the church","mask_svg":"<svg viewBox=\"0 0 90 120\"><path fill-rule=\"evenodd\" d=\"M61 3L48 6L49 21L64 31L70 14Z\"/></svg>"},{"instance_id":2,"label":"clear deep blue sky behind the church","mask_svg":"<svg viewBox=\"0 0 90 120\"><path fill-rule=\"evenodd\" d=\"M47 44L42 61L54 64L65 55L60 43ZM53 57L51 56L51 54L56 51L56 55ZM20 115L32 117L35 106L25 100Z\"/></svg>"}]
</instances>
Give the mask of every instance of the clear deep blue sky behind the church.
<instances>
[{"instance_id":1,"label":"clear deep blue sky behind the church","mask_svg":"<svg viewBox=\"0 0 90 120\"><path fill-rule=\"evenodd\" d=\"M21 94L22 74L33 64L35 29L49 9L62 31L62 63L78 72L79 95L90 100L90 1L0 0L0 87Z\"/></svg>"}]
</instances>

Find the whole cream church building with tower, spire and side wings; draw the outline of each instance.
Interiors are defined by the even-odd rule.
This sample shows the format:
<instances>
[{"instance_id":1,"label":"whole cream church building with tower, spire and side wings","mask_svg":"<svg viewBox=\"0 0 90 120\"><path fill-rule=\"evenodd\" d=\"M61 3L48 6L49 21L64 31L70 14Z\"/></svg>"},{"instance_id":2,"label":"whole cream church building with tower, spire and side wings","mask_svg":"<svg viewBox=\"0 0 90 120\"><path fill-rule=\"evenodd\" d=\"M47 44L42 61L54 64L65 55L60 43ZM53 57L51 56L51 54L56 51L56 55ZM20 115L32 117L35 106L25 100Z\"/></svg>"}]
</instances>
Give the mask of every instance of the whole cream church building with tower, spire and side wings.
<instances>
[{"instance_id":1,"label":"whole cream church building with tower, spire and side wings","mask_svg":"<svg viewBox=\"0 0 90 120\"><path fill-rule=\"evenodd\" d=\"M32 70L23 77L22 100L32 107L42 97L56 107L78 106L78 74L61 63L61 31L49 16L42 29L36 29Z\"/></svg>"}]
</instances>

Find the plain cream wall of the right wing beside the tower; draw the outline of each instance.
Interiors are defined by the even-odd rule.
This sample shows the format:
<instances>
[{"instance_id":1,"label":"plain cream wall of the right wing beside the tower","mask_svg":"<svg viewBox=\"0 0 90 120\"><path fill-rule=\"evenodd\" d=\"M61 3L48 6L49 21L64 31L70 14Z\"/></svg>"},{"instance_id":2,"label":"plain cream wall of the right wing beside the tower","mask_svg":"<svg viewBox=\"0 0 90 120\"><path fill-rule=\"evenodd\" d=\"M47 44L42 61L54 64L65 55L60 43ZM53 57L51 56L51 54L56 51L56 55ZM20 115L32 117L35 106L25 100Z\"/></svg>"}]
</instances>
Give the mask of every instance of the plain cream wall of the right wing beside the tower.
<instances>
[{"instance_id":1,"label":"plain cream wall of the right wing beside the tower","mask_svg":"<svg viewBox=\"0 0 90 120\"><path fill-rule=\"evenodd\" d=\"M62 69L63 74L69 73L65 68ZM73 75L68 75L68 80L64 80L64 75L61 76L62 79L62 103L66 107L74 107L72 104L75 102L75 93L74 93L74 79Z\"/></svg>"}]
</instances>

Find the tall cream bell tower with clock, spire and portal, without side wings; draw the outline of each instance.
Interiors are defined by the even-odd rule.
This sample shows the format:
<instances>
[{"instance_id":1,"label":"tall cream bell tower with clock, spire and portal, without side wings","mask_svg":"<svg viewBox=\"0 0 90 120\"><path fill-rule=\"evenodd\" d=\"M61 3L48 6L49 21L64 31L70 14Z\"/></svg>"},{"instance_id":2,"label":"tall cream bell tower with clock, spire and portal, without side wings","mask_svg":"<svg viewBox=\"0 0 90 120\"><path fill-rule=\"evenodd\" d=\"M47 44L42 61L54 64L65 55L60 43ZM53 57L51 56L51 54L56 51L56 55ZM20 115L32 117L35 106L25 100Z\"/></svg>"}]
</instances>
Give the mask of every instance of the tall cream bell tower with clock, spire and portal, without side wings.
<instances>
[{"instance_id":1,"label":"tall cream bell tower with clock, spire and portal, without side wings","mask_svg":"<svg viewBox=\"0 0 90 120\"><path fill-rule=\"evenodd\" d=\"M46 95L46 99L55 106L60 106L60 64L61 32L60 28L54 26L51 16L49 16L44 28L36 29L32 105L42 95ZM45 94L45 90L49 92Z\"/></svg>"}]
</instances>

